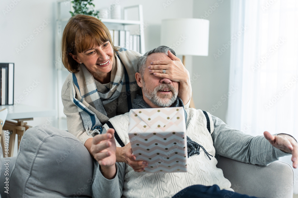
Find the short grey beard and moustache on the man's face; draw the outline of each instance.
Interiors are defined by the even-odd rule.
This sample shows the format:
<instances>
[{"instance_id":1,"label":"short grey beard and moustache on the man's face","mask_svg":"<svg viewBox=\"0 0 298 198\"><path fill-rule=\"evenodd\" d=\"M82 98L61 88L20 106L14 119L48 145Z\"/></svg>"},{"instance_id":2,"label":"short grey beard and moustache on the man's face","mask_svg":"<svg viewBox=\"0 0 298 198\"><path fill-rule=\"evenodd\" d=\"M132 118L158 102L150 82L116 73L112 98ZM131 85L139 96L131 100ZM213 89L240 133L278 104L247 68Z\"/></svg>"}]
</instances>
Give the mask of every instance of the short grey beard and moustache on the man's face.
<instances>
[{"instance_id":1,"label":"short grey beard and moustache on the man's face","mask_svg":"<svg viewBox=\"0 0 298 198\"><path fill-rule=\"evenodd\" d=\"M159 106L159 107L169 107L172 105L177 98L178 92L175 90L175 87L170 84L162 84L158 85L154 91L150 92L145 85L145 82L143 80L143 92L146 98L148 98L153 104ZM163 97L157 96L157 92L162 89L167 89L172 91L172 96L169 95L162 95Z\"/></svg>"}]
</instances>

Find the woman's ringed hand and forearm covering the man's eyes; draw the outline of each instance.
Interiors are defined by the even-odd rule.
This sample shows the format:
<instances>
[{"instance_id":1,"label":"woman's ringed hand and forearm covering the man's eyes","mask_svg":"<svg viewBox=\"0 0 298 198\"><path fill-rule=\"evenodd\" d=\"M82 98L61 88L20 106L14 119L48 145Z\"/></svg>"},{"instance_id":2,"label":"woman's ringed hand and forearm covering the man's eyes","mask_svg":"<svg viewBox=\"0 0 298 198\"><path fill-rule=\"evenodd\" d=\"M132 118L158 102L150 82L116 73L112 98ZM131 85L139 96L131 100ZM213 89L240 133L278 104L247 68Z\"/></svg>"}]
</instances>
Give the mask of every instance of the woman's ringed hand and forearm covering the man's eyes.
<instances>
[{"instance_id":1,"label":"woman's ringed hand and forearm covering the man's eyes","mask_svg":"<svg viewBox=\"0 0 298 198\"><path fill-rule=\"evenodd\" d=\"M168 56L172 60L153 61L148 66L149 72L158 77L168 78L175 82L179 82L178 97L181 98L183 104L187 104L191 97L190 75L181 60L168 50ZM165 69L166 73L162 73Z\"/></svg>"}]
</instances>

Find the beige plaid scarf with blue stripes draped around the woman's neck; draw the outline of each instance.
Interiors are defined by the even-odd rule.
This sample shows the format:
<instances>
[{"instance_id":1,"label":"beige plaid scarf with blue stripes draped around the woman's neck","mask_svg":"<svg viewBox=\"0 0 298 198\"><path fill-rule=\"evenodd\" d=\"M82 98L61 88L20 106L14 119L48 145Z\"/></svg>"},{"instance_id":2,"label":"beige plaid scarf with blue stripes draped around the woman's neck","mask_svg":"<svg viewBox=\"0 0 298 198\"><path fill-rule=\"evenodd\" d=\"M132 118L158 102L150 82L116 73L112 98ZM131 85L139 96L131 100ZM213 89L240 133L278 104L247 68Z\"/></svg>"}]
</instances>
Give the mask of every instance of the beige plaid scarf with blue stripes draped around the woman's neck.
<instances>
[{"instance_id":1,"label":"beige plaid scarf with blue stripes draped around the woman's neck","mask_svg":"<svg viewBox=\"0 0 298 198\"><path fill-rule=\"evenodd\" d=\"M80 64L79 72L72 74L72 101L77 106L87 132L94 129L101 132L103 124L109 120L104 105L118 98L118 103L112 105L111 109L115 110L121 104L121 108L127 108L128 112L139 90L135 73L138 71L137 62L142 55L125 48L116 48L118 51L117 56L114 56L109 91L97 90L94 77L84 64Z\"/></svg>"}]
</instances>

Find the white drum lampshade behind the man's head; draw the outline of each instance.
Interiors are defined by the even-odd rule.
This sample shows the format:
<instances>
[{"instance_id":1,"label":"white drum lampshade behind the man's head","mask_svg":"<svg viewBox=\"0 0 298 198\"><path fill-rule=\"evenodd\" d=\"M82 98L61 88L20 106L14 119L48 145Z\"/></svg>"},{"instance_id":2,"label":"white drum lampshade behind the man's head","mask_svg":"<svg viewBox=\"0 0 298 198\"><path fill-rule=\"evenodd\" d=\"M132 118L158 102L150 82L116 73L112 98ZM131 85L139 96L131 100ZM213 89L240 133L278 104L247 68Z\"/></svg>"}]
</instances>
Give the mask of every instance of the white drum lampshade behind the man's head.
<instances>
[{"instance_id":1,"label":"white drum lampshade behind the man's head","mask_svg":"<svg viewBox=\"0 0 298 198\"><path fill-rule=\"evenodd\" d=\"M208 56L209 20L195 18L164 19L161 45L177 55Z\"/></svg>"}]
</instances>

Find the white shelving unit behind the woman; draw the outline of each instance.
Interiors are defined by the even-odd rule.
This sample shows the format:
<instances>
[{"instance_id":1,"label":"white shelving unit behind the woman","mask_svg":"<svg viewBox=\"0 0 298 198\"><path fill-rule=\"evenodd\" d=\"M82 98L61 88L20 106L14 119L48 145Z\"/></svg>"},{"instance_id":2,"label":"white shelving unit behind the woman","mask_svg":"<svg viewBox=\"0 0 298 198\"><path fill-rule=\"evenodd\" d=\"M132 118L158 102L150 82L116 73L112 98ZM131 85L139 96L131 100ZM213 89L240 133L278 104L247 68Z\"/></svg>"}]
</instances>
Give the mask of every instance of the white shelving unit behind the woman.
<instances>
[{"instance_id":1,"label":"white shelving unit behind the woman","mask_svg":"<svg viewBox=\"0 0 298 198\"><path fill-rule=\"evenodd\" d=\"M130 14L129 11L132 10L138 10L137 11L137 20L127 20L128 15ZM69 11L73 11L72 3L69 0L58 0L57 1L57 16L56 16L56 31L55 31L55 70L56 70L56 109L58 111L58 127L66 120L66 116L63 113L63 104L61 101L61 89L62 85L69 74L67 69L63 66L62 60L61 60L61 38L63 34L64 27L66 26L66 23L68 22L69 18L71 17ZM144 20L143 20L143 8L142 5L135 5L130 7L124 7L123 8L123 20L117 20L117 19L100 19L108 29L113 30L127 30L129 26L137 26L137 34L139 34L139 52L145 53L145 37L144 37Z\"/></svg>"}]
</instances>

